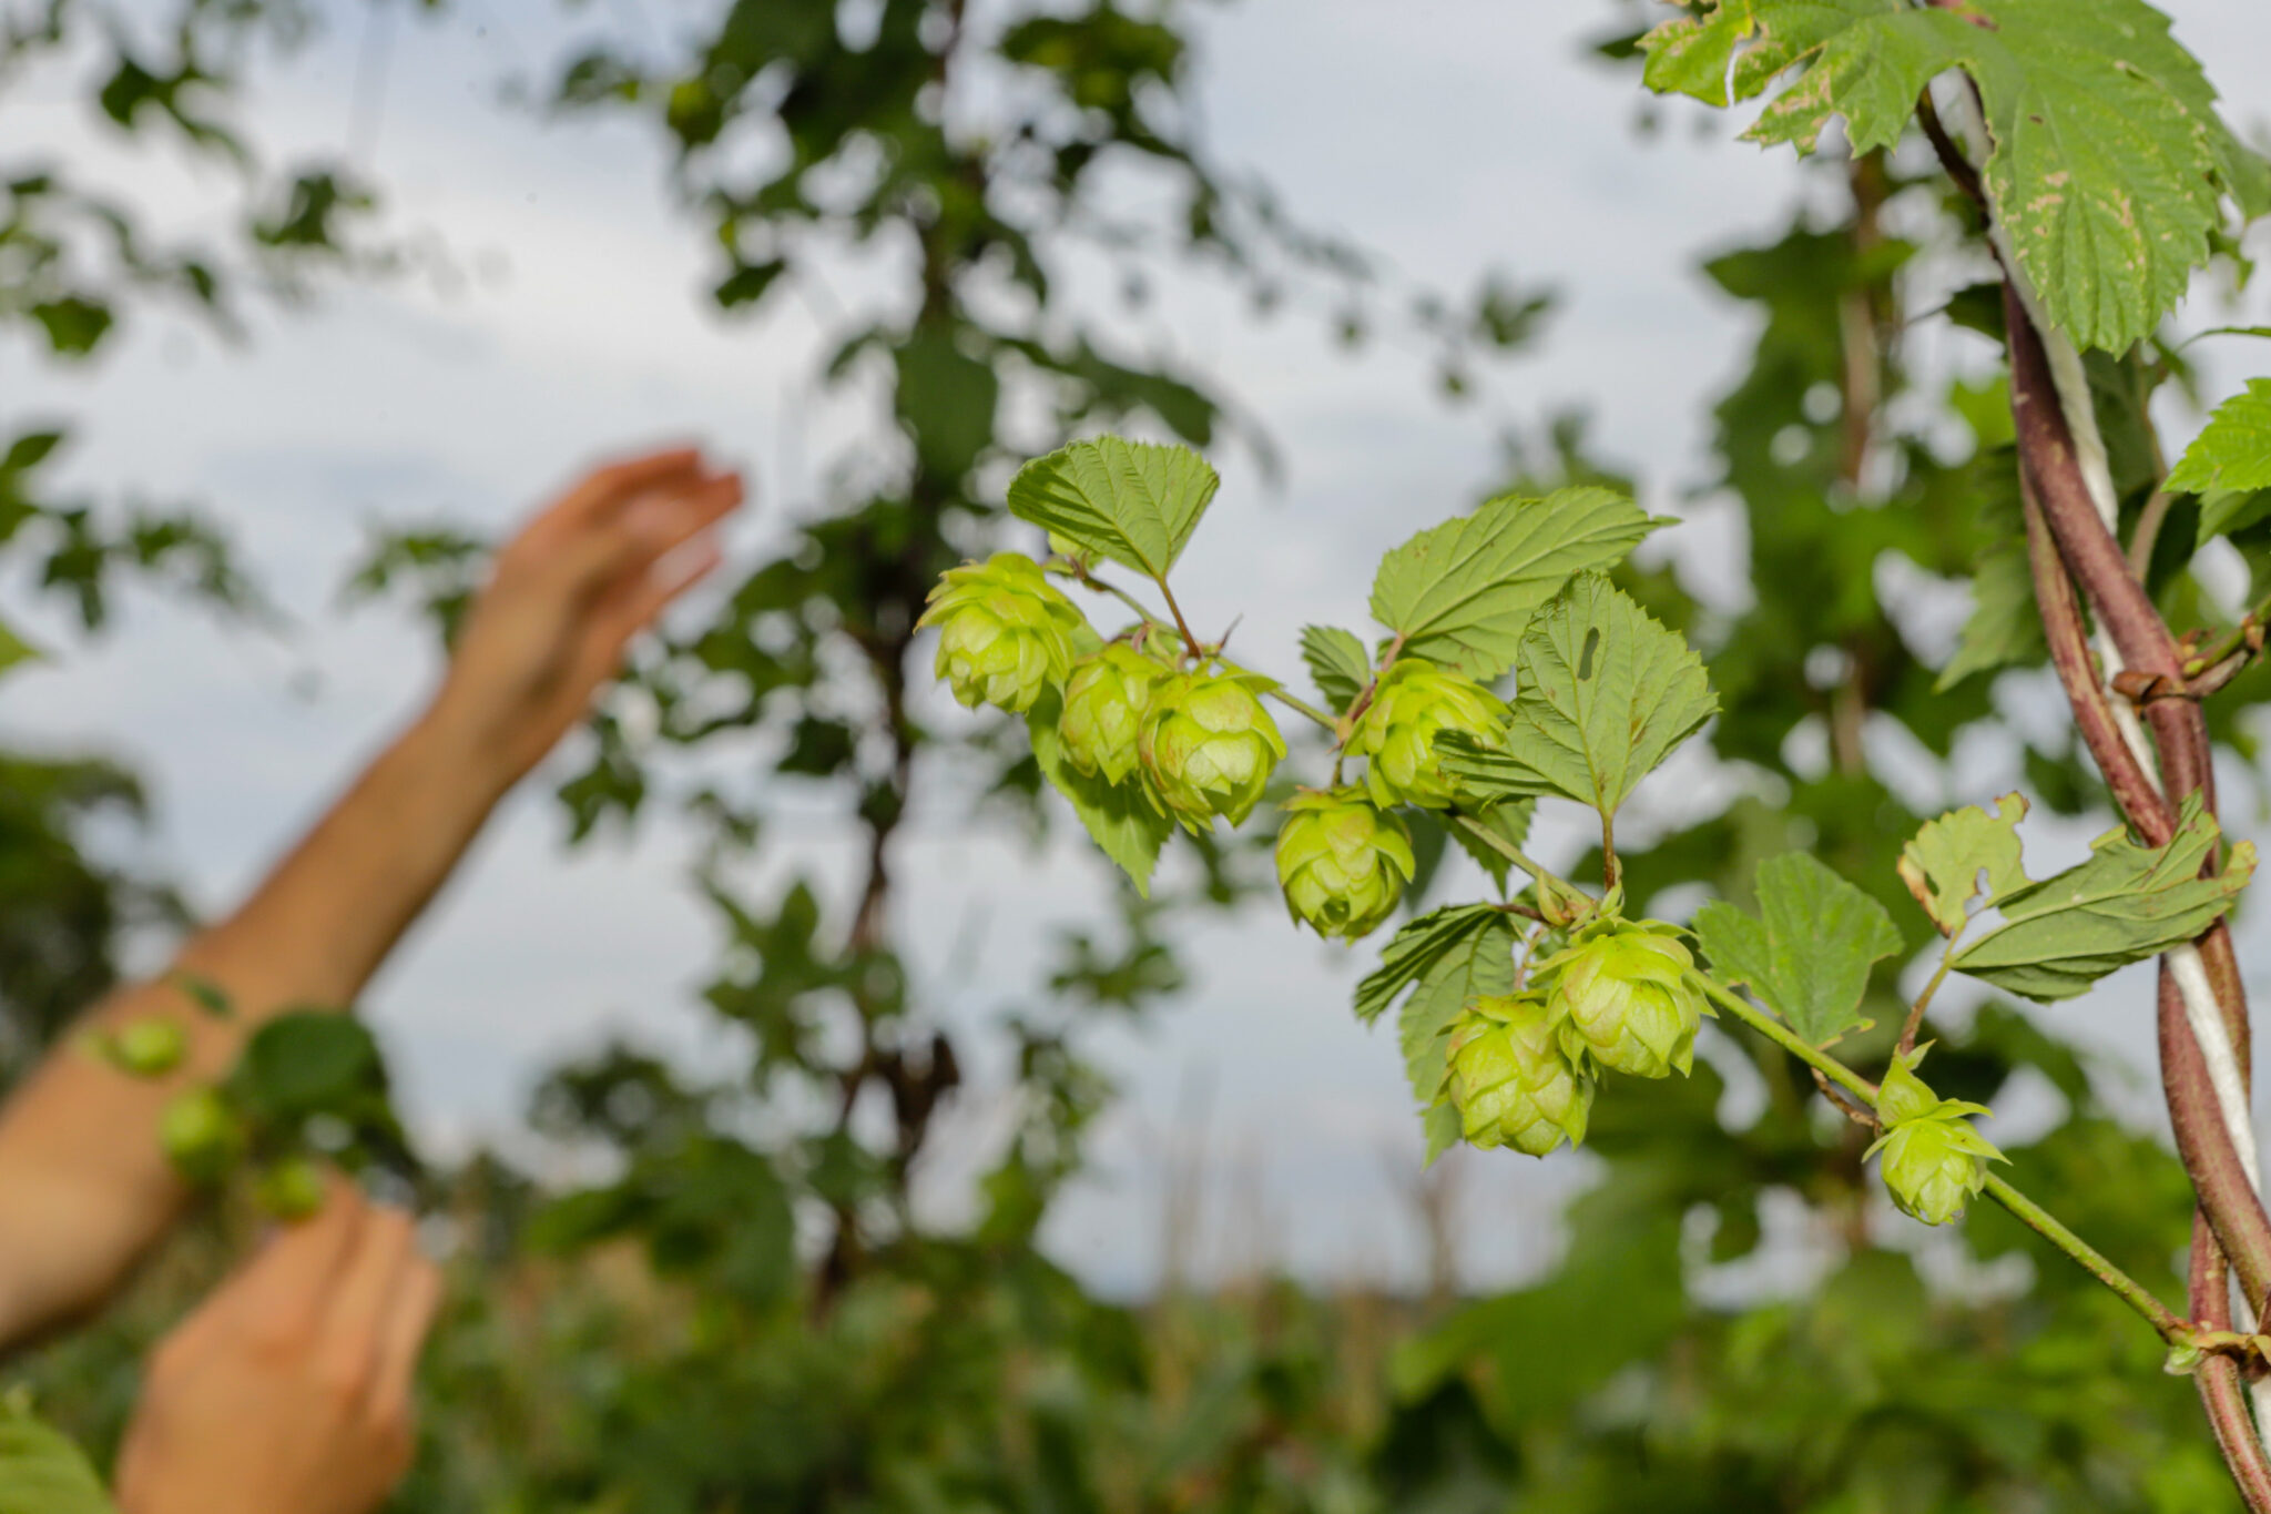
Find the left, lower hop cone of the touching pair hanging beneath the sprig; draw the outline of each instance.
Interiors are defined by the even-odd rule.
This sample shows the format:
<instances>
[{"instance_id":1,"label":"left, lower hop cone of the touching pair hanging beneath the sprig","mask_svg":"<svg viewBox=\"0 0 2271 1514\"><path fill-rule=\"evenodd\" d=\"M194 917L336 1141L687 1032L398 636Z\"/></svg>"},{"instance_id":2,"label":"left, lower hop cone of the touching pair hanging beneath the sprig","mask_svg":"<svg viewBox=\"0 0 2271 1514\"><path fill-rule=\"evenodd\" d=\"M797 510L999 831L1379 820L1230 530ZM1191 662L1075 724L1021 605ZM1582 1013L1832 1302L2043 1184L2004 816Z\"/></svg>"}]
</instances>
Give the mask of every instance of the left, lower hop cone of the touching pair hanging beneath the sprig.
<instances>
[{"instance_id":1,"label":"left, lower hop cone of the touching pair hanging beneath the sprig","mask_svg":"<svg viewBox=\"0 0 2271 1514\"><path fill-rule=\"evenodd\" d=\"M1592 1078L1562 1051L1544 994L1476 999L1451 1028L1451 1080L1472 1146L1512 1146L1542 1158L1585 1139Z\"/></svg>"}]
</instances>

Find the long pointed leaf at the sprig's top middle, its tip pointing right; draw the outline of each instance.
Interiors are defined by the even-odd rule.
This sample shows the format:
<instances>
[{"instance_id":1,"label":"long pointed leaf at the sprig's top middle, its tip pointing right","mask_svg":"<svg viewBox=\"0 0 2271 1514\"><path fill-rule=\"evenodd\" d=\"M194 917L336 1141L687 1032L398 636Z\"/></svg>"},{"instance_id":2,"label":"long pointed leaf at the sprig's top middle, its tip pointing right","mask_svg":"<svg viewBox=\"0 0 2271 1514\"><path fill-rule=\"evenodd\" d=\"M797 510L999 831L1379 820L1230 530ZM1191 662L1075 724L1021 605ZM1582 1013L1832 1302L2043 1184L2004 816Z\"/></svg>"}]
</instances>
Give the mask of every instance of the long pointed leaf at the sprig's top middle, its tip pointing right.
<instances>
[{"instance_id":1,"label":"long pointed leaf at the sprig's top middle, its tip pointing right","mask_svg":"<svg viewBox=\"0 0 2271 1514\"><path fill-rule=\"evenodd\" d=\"M1503 674L1531 615L1572 574L1612 567L1660 527L1608 488L1501 495L1410 538L1372 581L1372 615L1408 656L1483 683Z\"/></svg>"}]
</instances>

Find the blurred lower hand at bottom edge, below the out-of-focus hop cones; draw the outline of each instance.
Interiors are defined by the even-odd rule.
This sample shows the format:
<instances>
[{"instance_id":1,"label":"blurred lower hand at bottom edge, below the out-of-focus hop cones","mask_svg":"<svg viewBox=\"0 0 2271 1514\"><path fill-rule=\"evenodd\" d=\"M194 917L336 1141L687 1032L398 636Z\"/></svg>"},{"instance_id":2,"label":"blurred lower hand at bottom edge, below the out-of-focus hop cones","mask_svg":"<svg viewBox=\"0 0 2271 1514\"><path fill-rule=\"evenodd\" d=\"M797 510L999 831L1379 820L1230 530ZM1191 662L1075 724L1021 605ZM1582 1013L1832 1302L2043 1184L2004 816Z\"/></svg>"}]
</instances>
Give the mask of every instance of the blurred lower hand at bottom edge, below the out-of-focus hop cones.
<instances>
[{"instance_id":1,"label":"blurred lower hand at bottom edge, below the out-of-focus hop cones","mask_svg":"<svg viewBox=\"0 0 2271 1514\"><path fill-rule=\"evenodd\" d=\"M438 1301L411 1217L334 1183L150 1353L120 1512L368 1514L411 1464Z\"/></svg>"}]
</instances>

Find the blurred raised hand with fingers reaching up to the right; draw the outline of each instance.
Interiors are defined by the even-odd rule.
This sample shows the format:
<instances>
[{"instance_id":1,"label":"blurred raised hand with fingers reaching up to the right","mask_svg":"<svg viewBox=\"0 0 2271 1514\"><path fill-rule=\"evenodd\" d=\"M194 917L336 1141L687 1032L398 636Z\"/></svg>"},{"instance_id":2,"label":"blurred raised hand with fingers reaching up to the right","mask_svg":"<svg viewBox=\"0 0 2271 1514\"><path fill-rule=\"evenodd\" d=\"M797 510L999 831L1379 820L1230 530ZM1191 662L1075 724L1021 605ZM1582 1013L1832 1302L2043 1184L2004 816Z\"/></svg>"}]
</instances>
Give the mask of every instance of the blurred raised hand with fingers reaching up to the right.
<instances>
[{"instance_id":1,"label":"blurred raised hand with fingers reaching up to the right","mask_svg":"<svg viewBox=\"0 0 2271 1514\"><path fill-rule=\"evenodd\" d=\"M586 474L497 554L436 717L516 783L584 720L629 640L718 565L711 529L740 502L740 474L693 447Z\"/></svg>"}]
</instances>

